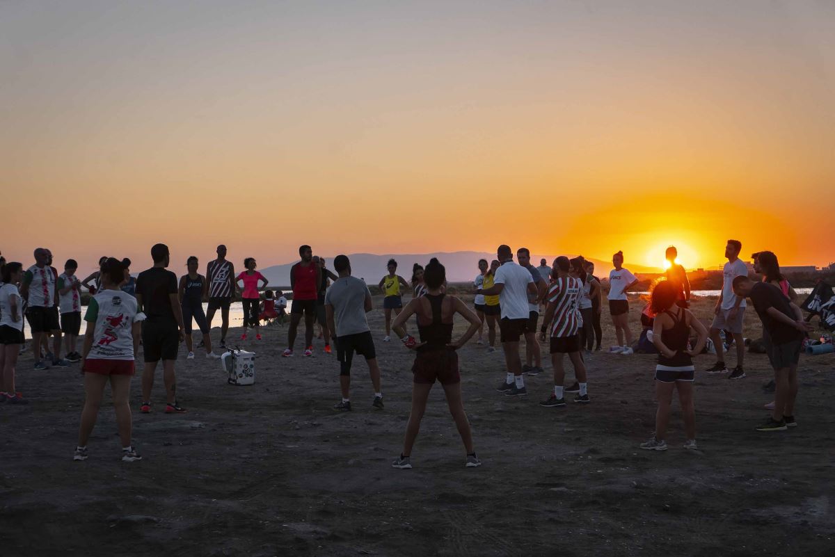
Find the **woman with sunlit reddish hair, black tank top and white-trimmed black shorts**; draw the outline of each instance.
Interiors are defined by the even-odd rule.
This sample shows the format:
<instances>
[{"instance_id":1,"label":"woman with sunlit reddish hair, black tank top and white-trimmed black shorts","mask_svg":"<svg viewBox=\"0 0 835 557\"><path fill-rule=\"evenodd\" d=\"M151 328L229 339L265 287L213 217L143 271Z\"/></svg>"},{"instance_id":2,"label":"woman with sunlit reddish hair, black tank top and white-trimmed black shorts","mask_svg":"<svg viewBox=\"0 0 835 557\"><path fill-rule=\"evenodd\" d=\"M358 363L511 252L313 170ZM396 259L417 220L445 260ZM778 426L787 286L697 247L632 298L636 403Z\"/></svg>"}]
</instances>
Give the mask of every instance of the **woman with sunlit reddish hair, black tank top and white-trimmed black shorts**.
<instances>
[{"instance_id":1,"label":"woman with sunlit reddish hair, black tank top and white-trimmed black shorts","mask_svg":"<svg viewBox=\"0 0 835 557\"><path fill-rule=\"evenodd\" d=\"M670 405L673 389L678 390L681 414L687 441L685 449L696 449L696 410L693 408L693 356L701 353L707 340L707 329L690 310L679 307L679 292L675 284L661 281L652 289L650 309L655 314L652 326L652 343L658 349L655 366L655 397L658 411L655 414L655 435L640 445L641 449L666 450L667 424L670 422ZM696 329L699 339L690 349L690 329Z\"/></svg>"}]
</instances>

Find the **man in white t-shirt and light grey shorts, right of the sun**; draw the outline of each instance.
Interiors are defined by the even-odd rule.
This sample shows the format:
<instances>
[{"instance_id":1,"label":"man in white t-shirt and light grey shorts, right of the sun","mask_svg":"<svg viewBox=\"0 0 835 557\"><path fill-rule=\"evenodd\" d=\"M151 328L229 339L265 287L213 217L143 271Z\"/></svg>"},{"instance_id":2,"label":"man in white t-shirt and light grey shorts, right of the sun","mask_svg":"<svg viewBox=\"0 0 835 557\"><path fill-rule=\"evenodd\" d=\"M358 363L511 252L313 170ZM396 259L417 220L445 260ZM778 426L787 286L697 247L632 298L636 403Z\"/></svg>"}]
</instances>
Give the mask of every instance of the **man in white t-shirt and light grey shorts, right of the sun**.
<instances>
[{"instance_id":1,"label":"man in white t-shirt and light grey shorts, right of the sun","mask_svg":"<svg viewBox=\"0 0 835 557\"><path fill-rule=\"evenodd\" d=\"M733 292L733 279L739 276L748 276L748 267L742 263L739 253L742 243L739 240L728 240L725 246L725 257L728 262L722 268L722 292L716 302L713 313L716 317L711 324L711 340L716 347L716 364L707 369L709 374L726 374L728 369L725 365L724 346L722 345L719 332L721 330L731 331L734 344L736 344L736 368L733 369L728 379L742 379L745 377L745 370L742 364L745 361L745 344L742 339L742 322L745 318L746 303Z\"/></svg>"}]
</instances>

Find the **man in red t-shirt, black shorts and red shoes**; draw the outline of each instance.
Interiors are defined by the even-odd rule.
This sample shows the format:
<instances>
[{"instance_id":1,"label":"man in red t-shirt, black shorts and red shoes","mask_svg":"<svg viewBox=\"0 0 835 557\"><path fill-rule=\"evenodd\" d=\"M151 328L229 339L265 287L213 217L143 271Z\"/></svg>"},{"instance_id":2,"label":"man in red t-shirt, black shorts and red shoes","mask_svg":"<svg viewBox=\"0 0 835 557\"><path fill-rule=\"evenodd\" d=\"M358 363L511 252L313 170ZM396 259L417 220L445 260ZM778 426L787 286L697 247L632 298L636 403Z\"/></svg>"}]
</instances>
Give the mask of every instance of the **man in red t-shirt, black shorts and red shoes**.
<instances>
[{"instance_id":1,"label":"man in red t-shirt, black shorts and red shoes","mask_svg":"<svg viewBox=\"0 0 835 557\"><path fill-rule=\"evenodd\" d=\"M316 321L316 295L319 292L321 269L313 263L313 250L304 245L299 248L301 261L290 268L290 287L293 290L293 305L290 309L290 328L287 329L287 349L282 356L293 355L296 344L296 329L301 315L305 316L305 357L313 355L313 324Z\"/></svg>"}]
</instances>

